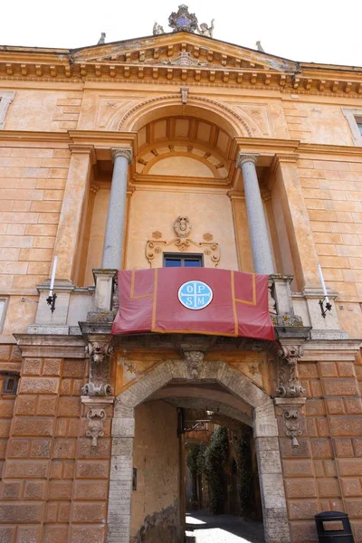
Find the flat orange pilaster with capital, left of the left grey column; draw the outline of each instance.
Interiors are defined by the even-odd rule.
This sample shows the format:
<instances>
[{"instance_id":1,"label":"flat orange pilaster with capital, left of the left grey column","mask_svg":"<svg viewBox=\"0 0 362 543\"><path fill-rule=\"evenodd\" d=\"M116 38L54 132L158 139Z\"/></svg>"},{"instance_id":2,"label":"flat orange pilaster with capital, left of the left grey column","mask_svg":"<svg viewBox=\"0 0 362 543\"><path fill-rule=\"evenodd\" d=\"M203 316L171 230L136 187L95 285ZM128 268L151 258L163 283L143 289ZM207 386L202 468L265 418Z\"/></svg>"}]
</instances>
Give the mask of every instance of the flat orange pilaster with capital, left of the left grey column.
<instances>
[{"instance_id":1,"label":"flat orange pilaster with capital, left of the left grey column","mask_svg":"<svg viewBox=\"0 0 362 543\"><path fill-rule=\"evenodd\" d=\"M81 222L90 168L95 162L92 146L71 145L71 163L62 199L62 210L55 239L54 254L58 255L56 279L72 281L81 238Z\"/></svg>"}]
</instances>

